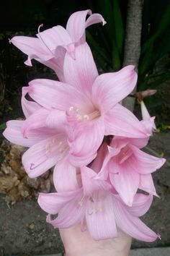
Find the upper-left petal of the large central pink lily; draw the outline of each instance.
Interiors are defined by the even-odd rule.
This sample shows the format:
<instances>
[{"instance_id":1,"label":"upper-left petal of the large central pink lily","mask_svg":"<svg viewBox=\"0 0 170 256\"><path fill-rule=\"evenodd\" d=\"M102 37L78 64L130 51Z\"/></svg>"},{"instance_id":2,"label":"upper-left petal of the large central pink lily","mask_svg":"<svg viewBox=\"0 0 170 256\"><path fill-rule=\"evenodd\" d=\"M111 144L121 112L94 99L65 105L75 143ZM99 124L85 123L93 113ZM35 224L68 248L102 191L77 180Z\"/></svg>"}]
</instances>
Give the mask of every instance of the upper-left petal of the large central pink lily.
<instances>
[{"instance_id":1,"label":"upper-left petal of the large central pink lily","mask_svg":"<svg viewBox=\"0 0 170 256\"><path fill-rule=\"evenodd\" d=\"M92 104L80 91L63 82L37 79L29 83L29 95L41 106L48 109L69 111L69 108L85 108ZM88 111L88 108L86 109Z\"/></svg>"}]
</instances>

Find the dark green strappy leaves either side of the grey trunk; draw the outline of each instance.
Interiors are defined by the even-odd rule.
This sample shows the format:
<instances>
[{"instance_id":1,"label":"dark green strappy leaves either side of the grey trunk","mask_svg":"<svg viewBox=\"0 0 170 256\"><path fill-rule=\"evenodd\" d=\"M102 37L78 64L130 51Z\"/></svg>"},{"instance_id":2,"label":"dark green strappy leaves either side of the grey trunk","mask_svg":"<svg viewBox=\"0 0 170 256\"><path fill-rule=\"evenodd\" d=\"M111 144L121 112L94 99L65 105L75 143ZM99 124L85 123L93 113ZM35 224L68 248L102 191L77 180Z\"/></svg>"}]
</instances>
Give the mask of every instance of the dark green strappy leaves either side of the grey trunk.
<instances>
[{"instance_id":1,"label":"dark green strappy leaves either side of the grey trunk","mask_svg":"<svg viewBox=\"0 0 170 256\"><path fill-rule=\"evenodd\" d=\"M123 61L128 1L88 1L89 7L107 21L106 27L91 28L87 40L97 52L104 71L120 69ZM137 24L138 25L138 24ZM93 33L93 36L92 36ZM138 67L138 90L157 88L170 78L170 2L143 1L141 54Z\"/></svg>"}]
</instances>

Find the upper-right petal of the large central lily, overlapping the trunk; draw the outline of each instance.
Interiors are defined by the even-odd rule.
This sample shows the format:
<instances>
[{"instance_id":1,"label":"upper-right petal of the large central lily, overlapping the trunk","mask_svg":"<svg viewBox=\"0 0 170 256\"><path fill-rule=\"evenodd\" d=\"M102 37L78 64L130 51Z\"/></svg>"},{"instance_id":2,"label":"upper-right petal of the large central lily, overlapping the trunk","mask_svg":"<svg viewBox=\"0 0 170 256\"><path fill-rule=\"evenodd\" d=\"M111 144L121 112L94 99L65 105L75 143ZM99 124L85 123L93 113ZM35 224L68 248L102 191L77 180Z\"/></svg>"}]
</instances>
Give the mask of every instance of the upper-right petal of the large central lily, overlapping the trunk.
<instances>
[{"instance_id":1,"label":"upper-right petal of the large central lily, overlapping the trunk","mask_svg":"<svg viewBox=\"0 0 170 256\"><path fill-rule=\"evenodd\" d=\"M102 111L109 111L135 88L137 74L134 68L131 65L97 77L92 87L92 98Z\"/></svg>"}]
</instances>

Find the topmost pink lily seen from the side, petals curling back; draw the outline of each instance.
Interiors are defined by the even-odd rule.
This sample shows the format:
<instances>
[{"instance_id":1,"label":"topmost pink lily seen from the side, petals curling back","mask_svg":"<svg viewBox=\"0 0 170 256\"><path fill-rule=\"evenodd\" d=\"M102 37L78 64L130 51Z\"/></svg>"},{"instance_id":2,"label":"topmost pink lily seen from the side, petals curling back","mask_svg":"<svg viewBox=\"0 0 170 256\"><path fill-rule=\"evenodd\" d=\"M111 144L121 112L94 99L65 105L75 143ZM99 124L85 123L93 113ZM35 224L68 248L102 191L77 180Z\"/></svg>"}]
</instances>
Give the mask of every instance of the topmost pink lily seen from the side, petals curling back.
<instances>
[{"instance_id":1,"label":"topmost pink lily seen from the side, petals curling back","mask_svg":"<svg viewBox=\"0 0 170 256\"><path fill-rule=\"evenodd\" d=\"M86 20L87 14L90 16ZM74 57L75 47L86 40L86 27L99 22L106 23L102 15L92 14L91 10L74 12L68 19L66 29L58 25L40 33L40 25L37 38L14 36L10 42L27 54L24 64L32 66L31 60L36 59L53 69L59 80L64 81L63 59L66 51Z\"/></svg>"}]
</instances>

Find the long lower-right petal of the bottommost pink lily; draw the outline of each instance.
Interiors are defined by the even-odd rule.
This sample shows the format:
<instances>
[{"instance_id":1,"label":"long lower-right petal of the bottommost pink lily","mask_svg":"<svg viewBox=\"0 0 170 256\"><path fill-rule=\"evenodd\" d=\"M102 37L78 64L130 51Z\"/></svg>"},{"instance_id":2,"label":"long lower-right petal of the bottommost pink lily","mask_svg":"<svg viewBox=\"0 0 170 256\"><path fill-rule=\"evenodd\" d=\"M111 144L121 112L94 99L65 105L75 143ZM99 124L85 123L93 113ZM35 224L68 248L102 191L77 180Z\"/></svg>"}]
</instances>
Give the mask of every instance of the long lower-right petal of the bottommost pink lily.
<instances>
[{"instance_id":1,"label":"long lower-right petal of the bottommost pink lily","mask_svg":"<svg viewBox=\"0 0 170 256\"><path fill-rule=\"evenodd\" d=\"M126 234L146 242L153 242L158 238L158 235L140 221L138 217L128 213L128 210L118 200L115 200L113 206L117 226Z\"/></svg>"}]
</instances>

